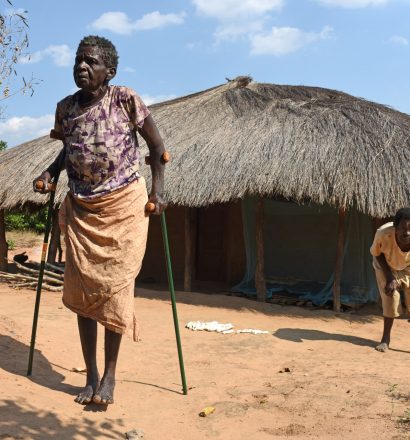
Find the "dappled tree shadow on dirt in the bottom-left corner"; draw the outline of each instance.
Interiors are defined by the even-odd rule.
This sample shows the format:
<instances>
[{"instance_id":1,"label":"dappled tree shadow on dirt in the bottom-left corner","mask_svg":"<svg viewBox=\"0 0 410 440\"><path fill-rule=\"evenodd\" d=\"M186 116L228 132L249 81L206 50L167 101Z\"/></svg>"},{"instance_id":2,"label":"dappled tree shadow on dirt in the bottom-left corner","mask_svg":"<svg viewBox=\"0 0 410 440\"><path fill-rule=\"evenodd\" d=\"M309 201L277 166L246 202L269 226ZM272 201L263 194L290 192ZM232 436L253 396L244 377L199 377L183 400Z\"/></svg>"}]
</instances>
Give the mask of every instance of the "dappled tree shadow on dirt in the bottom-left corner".
<instances>
[{"instance_id":1,"label":"dappled tree shadow on dirt in the bottom-left corner","mask_svg":"<svg viewBox=\"0 0 410 440\"><path fill-rule=\"evenodd\" d=\"M25 399L0 402L0 439L119 439L121 420L97 423L87 418L62 421L50 410L31 406ZM125 431L125 429L124 429Z\"/></svg>"}]
</instances>

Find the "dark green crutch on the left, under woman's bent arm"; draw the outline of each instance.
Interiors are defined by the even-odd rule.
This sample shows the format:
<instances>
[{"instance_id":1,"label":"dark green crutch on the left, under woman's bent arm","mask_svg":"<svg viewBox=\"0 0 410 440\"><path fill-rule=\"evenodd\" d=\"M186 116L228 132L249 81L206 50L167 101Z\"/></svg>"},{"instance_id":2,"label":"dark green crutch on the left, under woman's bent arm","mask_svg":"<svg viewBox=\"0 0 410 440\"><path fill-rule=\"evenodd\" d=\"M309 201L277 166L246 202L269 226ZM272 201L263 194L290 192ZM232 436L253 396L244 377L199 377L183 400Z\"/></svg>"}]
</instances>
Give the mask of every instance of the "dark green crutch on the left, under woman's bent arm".
<instances>
[{"instance_id":1,"label":"dark green crutch on the left, under woman's bent arm","mask_svg":"<svg viewBox=\"0 0 410 440\"><path fill-rule=\"evenodd\" d=\"M61 140L61 137L59 137L58 134L54 132L54 130L51 130L50 137L53 139L60 139ZM29 357L28 357L27 376L31 376L31 372L33 369L33 355L34 355L34 347L36 344L38 312L40 310L40 299L41 299L41 287L43 285L44 268L46 265L46 258L47 258L48 237L50 235L50 229L51 229L51 219L53 216L53 207L54 207L54 199L55 199L55 194L56 194L57 182L60 177L60 170L61 170L63 160L64 160L64 154L61 155L61 158L60 158L60 161L58 164L59 165L58 170L56 172L56 175L54 176L53 183L49 183L47 185L47 191L50 192L50 200L48 202L47 220L46 220L46 227L45 227L45 233L44 233L43 248L42 248L42 252L41 252L40 270L38 273L36 302L34 305L34 317L33 317L33 327L31 330L31 342L30 342L30 353L29 353ZM43 188L43 181L42 180L39 180L36 182L36 188L39 190L41 190Z\"/></svg>"}]
</instances>

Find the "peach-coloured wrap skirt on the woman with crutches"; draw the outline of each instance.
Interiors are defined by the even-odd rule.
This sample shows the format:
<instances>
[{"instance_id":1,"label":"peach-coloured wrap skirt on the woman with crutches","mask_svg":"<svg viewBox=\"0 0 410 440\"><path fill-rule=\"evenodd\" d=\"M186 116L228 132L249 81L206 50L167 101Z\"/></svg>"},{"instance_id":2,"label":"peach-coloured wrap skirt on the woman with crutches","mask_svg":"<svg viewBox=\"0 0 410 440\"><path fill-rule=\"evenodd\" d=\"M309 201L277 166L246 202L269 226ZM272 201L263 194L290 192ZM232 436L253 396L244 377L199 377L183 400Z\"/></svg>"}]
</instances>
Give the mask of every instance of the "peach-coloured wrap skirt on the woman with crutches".
<instances>
[{"instance_id":1,"label":"peach-coloured wrap skirt on the woman with crutches","mask_svg":"<svg viewBox=\"0 0 410 440\"><path fill-rule=\"evenodd\" d=\"M83 200L69 192L59 223L66 246L63 303L138 340L134 283L148 235L145 180Z\"/></svg>"}]
</instances>

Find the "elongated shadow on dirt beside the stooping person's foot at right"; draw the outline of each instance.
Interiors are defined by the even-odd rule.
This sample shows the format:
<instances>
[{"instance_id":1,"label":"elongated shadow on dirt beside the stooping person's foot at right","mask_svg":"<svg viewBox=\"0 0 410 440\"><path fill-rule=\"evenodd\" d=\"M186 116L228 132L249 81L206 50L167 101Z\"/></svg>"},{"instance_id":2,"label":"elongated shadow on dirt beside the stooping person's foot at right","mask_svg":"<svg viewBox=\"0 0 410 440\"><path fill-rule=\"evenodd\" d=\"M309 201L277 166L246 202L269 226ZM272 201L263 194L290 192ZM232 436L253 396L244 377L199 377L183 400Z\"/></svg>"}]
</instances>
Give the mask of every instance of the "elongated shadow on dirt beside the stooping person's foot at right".
<instances>
[{"instance_id":1,"label":"elongated shadow on dirt beside the stooping person's foot at right","mask_svg":"<svg viewBox=\"0 0 410 440\"><path fill-rule=\"evenodd\" d=\"M348 344L372 347L376 342L372 339L360 338L358 336L344 335L340 333L328 333L321 330L304 328L280 328L273 333L273 336L291 342L303 341L340 341Z\"/></svg>"}]
</instances>

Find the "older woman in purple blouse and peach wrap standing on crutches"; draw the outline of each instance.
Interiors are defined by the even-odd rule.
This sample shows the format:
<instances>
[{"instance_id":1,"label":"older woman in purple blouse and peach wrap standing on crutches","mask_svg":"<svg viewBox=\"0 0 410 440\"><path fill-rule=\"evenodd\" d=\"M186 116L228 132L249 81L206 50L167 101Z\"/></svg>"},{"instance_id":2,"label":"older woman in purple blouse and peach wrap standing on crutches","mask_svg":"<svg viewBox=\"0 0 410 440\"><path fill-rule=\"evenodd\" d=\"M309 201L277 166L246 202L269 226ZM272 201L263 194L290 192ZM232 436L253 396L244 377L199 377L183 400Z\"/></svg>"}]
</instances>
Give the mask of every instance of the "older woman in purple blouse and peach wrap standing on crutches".
<instances>
[{"instance_id":1,"label":"older woman in purple blouse and peach wrap standing on crutches","mask_svg":"<svg viewBox=\"0 0 410 440\"><path fill-rule=\"evenodd\" d=\"M109 85L117 70L114 45L98 36L79 44L74 81L79 91L57 104L54 137L64 148L39 177L43 188L66 168L69 192L60 210L66 244L63 303L78 317L87 382L75 401L113 403L123 334L137 340L134 280L145 252L147 201L159 214L164 145L149 110L131 89ZM138 174L137 131L150 150L149 197ZM38 180L38 179L36 179ZM105 327L105 370L96 361L97 322Z\"/></svg>"}]
</instances>

